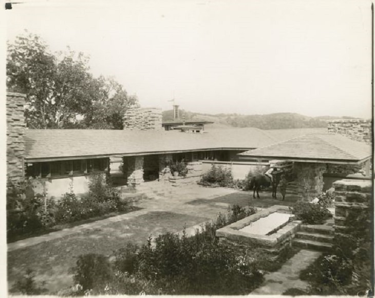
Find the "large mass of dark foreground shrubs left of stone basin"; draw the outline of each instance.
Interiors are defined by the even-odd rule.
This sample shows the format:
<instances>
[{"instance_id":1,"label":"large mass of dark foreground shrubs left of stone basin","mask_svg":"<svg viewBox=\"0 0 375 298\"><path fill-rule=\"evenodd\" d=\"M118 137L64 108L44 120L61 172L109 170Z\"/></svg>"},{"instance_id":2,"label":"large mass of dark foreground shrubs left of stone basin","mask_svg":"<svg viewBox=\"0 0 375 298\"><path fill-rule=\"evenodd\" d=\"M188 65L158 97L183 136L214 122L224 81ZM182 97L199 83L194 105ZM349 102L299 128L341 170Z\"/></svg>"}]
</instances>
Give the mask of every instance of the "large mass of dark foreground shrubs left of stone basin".
<instances>
[{"instance_id":1,"label":"large mass of dark foreground shrubs left of stone basin","mask_svg":"<svg viewBox=\"0 0 375 298\"><path fill-rule=\"evenodd\" d=\"M128 244L116 251L111 261L80 256L73 269L76 286L59 294L248 294L263 281L263 272L251 255L220 245L215 231L253 213L234 206L194 236L150 237L142 247Z\"/></svg>"}]
</instances>

